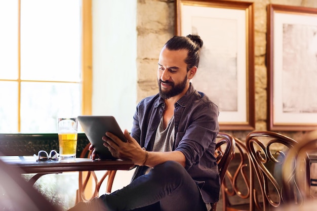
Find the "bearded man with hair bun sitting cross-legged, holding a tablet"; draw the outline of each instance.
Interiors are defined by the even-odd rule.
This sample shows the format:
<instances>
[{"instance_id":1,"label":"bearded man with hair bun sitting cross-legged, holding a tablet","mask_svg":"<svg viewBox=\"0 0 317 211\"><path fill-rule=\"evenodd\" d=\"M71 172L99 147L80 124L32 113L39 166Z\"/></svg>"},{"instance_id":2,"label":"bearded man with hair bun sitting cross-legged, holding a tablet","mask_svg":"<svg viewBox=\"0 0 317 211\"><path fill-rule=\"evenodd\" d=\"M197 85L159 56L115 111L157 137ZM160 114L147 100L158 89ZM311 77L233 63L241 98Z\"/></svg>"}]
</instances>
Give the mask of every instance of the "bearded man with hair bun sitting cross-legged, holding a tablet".
<instances>
[{"instance_id":1,"label":"bearded man with hair bun sitting cross-legged, holding a tablet","mask_svg":"<svg viewBox=\"0 0 317 211\"><path fill-rule=\"evenodd\" d=\"M74 210L209 210L220 180L214 157L218 108L194 90L203 40L174 36L163 47L157 70L159 94L137 106L128 142L102 139L114 157L132 160L132 182L121 190L76 204ZM93 146L91 146L93 150ZM93 153L93 159L96 158Z\"/></svg>"}]
</instances>

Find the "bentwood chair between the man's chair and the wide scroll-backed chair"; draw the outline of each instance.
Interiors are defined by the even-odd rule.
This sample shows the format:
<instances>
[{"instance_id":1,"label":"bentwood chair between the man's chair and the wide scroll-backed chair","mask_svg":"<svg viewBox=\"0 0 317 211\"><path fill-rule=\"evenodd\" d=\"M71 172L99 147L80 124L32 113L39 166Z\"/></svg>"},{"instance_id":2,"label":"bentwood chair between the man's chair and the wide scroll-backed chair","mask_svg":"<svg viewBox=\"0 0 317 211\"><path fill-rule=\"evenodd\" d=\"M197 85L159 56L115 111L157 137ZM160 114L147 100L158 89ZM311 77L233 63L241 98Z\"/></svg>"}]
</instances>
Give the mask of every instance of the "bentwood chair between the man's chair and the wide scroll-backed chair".
<instances>
[{"instance_id":1,"label":"bentwood chair between the man's chair and the wide scroll-backed chair","mask_svg":"<svg viewBox=\"0 0 317 211\"><path fill-rule=\"evenodd\" d=\"M235 141L235 152L226 172L225 180L221 186L222 210L251 211L259 209L255 204L253 195L257 194L254 188L254 170L250 154L244 142L237 138Z\"/></svg>"}]
</instances>

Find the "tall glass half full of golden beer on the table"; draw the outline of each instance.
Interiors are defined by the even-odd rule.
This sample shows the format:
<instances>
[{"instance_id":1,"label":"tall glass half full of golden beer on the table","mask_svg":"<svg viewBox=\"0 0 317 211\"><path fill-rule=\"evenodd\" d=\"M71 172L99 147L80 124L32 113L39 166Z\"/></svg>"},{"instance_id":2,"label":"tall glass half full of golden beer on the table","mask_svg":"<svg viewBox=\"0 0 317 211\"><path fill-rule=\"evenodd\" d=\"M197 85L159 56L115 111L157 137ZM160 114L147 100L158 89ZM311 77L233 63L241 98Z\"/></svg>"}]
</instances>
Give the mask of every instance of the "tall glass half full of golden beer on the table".
<instances>
[{"instance_id":1,"label":"tall glass half full of golden beer on the table","mask_svg":"<svg viewBox=\"0 0 317 211\"><path fill-rule=\"evenodd\" d=\"M61 160L74 160L77 148L77 118L58 118L59 156Z\"/></svg>"}]
</instances>

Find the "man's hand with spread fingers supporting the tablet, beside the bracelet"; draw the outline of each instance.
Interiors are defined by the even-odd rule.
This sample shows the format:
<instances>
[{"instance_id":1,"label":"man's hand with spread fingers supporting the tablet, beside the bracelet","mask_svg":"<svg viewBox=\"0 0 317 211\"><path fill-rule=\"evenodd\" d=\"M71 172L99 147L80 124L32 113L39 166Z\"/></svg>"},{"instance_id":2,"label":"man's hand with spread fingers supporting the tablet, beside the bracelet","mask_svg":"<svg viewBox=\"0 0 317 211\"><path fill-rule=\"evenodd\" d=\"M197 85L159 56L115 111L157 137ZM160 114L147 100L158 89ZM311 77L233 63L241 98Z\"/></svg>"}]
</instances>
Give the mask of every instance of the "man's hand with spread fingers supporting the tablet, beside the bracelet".
<instances>
[{"instance_id":1,"label":"man's hand with spread fingers supporting the tablet, beside the bracelet","mask_svg":"<svg viewBox=\"0 0 317 211\"><path fill-rule=\"evenodd\" d=\"M136 165L142 165L146 152L141 148L139 143L131 137L129 132L125 130L124 135L127 142L121 141L117 136L107 132L102 137L104 146L108 148L113 157L123 160L131 160Z\"/></svg>"}]
</instances>

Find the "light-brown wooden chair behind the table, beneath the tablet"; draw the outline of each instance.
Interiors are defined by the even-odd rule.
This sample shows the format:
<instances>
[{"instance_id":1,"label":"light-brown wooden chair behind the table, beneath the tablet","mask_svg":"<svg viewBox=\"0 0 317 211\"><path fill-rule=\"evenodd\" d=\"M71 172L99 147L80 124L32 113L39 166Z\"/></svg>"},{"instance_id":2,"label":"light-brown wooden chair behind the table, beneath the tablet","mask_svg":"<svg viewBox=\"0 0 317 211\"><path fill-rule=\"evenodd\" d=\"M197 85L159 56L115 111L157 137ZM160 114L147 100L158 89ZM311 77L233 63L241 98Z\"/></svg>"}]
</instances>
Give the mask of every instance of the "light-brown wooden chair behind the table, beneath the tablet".
<instances>
[{"instance_id":1,"label":"light-brown wooden chair behind the table, beneath the tablet","mask_svg":"<svg viewBox=\"0 0 317 211\"><path fill-rule=\"evenodd\" d=\"M81 158L91 158L92 152L89 151L89 146L90 146L90 143L87 144L87 146L83 149L83 151L80 155ZM78 190L76 192L76 203L78 203L80 201L87 202L94 197L98 197L100 187L107 177L108 177L108 180L107 180L107 185L106 185L106 193L110 193L111 189L112 189L112 184L113 184L115 173L116 173L116 170L105 171L105 174L102 176L102 178L100 180L98 180L97 175L94 171L79 172ZM87 175L84 176L85 174L87 174ZM91 197L86 198L85 190L89 187L87 185L88 185L89 181L91 181L91 180L93 181L92 184L94 186L94 190L93 190Z\"/></svg>"}]
</instances>

